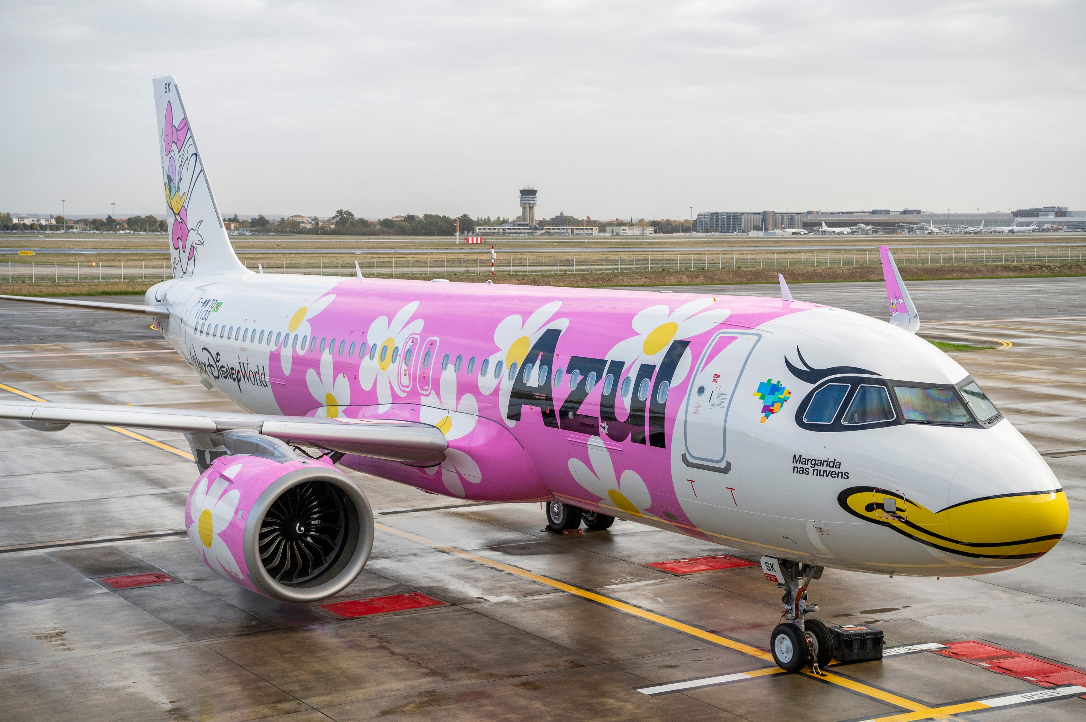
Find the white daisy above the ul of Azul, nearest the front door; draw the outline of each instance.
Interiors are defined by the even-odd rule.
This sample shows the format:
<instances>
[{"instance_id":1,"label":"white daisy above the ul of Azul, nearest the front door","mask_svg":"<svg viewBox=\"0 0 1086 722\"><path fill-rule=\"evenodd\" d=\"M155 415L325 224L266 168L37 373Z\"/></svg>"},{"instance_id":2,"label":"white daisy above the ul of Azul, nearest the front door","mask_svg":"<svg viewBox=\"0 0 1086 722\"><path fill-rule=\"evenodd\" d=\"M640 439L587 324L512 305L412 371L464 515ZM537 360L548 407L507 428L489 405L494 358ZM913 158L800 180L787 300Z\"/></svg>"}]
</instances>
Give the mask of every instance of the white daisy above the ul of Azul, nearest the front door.
<instances>
[{"instance_id":1,"label":"white daisy above the ul of Azul, nearest the front door","mask_svg":"<svg viewBox=\"0 0 1086 722\"><path fill-rule=\"evenodd\" d=\"M714 308L704 314L699 313L714 303L712 299L696 299L684 303L674 312L662 304L640 311L630 322L637 335L615 344L615 347L607 352L606 357L626 362L623 373L631 376L636 373L641 364L659 367L672 341L705 333L731 315L732 312L728 308ZM671 377L672 387L679 385L686 378L691 363L691 354L687 351L682 355ZM618 383L620 380L615 379L615 382ZM619 403L623 407L628 407L624 396L619 395Z\"/></svg>"}]
</instances>

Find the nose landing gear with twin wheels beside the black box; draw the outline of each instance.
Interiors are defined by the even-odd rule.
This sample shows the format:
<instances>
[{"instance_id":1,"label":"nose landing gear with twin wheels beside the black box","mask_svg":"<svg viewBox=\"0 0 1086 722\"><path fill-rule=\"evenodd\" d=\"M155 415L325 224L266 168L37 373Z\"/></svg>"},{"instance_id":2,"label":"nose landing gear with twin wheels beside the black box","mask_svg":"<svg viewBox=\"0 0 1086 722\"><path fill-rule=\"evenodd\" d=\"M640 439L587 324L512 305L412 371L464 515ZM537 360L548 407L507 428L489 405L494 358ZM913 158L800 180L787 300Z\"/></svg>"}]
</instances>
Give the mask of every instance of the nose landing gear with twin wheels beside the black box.
<instances>
[{"instance_id":1,"label":"nose landing gear with twin wheels beside the black box","mask_svg":"<svg viewBox=\"0 0 1086 722\"><path fill-rule=\"evenodd\" d=\"M807 586L822 575L822 567L762 557L761 570L766 579L784 590L781 597L784 621L773 628L769 637L773 661L787 672L798 672L810 664L815 674L821 674L821 668L833 658L833 638L824 622L805 616L818 611L818 606L807 600Z\"/></svg>"}]
</instances>

